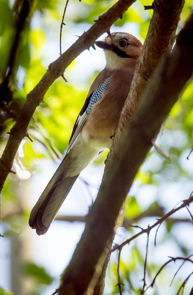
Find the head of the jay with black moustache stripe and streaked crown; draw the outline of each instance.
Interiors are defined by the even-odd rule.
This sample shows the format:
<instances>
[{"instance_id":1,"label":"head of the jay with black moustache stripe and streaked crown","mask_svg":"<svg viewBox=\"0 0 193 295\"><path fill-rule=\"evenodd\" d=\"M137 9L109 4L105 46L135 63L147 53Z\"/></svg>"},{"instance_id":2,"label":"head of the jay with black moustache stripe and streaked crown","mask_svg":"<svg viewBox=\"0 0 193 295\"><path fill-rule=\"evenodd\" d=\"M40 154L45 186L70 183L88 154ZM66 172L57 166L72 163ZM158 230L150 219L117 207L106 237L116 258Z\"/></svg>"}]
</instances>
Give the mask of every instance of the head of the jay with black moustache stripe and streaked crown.
<instances>
[{"instance_id":1,"label":"head of the jay with black moustache stripe and streaked crown","mask_svg":"<svg viewBox=\"0 0 193 295\"><path fill-rule=\"evenodd\" d=\"M104 40L96 41L96 45L104 49L109 69L127 66L136 62L142 51L142 43L133 35L122 32L109 34Z\"/></svg>"}]
</instances>

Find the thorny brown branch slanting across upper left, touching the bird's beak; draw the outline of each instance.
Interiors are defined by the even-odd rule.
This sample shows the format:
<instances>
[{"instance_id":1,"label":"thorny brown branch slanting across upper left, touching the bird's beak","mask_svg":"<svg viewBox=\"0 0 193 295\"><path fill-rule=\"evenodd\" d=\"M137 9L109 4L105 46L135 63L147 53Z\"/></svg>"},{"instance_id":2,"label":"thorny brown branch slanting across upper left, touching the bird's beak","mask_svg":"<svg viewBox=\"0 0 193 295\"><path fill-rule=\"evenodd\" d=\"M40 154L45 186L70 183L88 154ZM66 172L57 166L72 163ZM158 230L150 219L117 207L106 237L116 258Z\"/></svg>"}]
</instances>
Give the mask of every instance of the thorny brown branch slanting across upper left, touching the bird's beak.
<instances>
[{"instance_id":1,"label":"thorny brown branch slanting across upper left, touching the bird's beak","mask_svg":"<svg viewBox=\"0 0 193 295\"><path fill-rule=\"evenodd\" d=\"M26 103L21 110L19 118L11 128L9 140L0 159L0 192L4 185L7 175L12 167L14 156L19 148L21 140L24 138L30 119L37 106L43 100L44 94L51 84L63 73L66 67L76 58L83 50L94 46L95 40L104 32L108 32L111 25L119 18L128 7L136 0L119 0L112 8L100 16L95 24L68 49L65 53L49 65L49 68L41 81L27 95Z\"/></svg>"}]
</instances>

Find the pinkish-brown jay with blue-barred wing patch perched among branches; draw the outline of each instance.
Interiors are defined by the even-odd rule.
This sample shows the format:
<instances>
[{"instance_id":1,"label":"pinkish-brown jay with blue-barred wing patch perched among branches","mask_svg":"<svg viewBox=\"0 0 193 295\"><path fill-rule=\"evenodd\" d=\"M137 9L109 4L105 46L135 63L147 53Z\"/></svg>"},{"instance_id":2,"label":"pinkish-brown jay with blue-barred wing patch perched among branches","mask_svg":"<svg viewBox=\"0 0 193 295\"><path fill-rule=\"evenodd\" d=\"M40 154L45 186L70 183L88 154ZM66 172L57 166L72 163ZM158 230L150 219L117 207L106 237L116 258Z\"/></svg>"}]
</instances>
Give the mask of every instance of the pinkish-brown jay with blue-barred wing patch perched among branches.
<instances>
[{"instance_id":1,"label":"pinkish-brown jay with blue-barred wing patch perched among branches","mask_svg":"<svg viewBox=\"0 0 193 295\"><path fill-rule=\"evenodd\" d=\"M106 65L91 84L64 159L31 211L29 226L38 235L49 229L79 173L110 149L142 51L142 43L124 32L109 33L95 44L104 50Z\"/></svg>"}]
</instances>

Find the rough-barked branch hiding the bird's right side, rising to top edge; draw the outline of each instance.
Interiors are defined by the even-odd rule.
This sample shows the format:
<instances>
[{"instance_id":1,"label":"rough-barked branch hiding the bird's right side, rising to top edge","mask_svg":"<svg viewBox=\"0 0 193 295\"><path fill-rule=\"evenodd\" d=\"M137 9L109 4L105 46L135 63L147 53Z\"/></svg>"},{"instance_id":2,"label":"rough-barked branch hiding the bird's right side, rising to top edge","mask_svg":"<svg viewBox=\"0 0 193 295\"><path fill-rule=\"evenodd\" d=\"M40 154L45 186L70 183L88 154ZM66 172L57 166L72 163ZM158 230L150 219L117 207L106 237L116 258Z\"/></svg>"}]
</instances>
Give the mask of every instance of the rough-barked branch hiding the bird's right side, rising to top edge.
<instances>
[{"instance_id":1,"label":"rough-barked branch hiding the bird's right side, rising to top edge","mask_svg":"<svg viewBox=\"0 0 193 295\"><path fill-rule=\"evenodd\" d=\"M184 0L155 0L153 2L154 14L149 25L142 54L137 61L127 100L122 109L112 152L117 147L124 126L136 108L141 93L147 85L147 81L152 76L154 69L157 67L160 58L164 53L171 52L172 50L183 6Z\"/></svg>"}]
</instances>

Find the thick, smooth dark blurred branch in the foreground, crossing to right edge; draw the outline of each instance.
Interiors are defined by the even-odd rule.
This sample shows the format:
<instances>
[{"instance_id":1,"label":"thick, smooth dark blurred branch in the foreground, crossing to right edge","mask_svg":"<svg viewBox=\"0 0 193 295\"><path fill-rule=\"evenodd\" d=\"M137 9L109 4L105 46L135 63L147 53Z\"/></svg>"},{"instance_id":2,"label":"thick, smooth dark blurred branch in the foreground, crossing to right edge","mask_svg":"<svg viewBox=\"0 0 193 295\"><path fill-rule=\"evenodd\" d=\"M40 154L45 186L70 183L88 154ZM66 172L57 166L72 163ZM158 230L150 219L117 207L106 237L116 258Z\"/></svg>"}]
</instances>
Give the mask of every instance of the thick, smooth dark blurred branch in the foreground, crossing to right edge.
<instances>
[{"instance_id":1,"label":"thick, smooth dark blurred branch in the foreground, crossing to right edge","mask_svg":"<svg viewBox=\"0 0 193 295\"><path fill-rule=\"evenodd\" d=\"M164 1L158 2L164 4ZM171 2L173 3L171 14L174 16L173 12L176 11L174 6L178 1ZM169 12L166 10L167 1L165 4L164 10L161 11L167 15L166 19L168 19L171 10ZM156 21L161 22L160 26L164 25L162 17L163 15L160 16L160 20L156 18ZM99 260L101 263L101 259L107 255L104 249L106 250L107 243L113 235L115 220L128 190L152 146L152 139L159 132L185 83L192 75L192 31L193 16L179 34L172 53L162 60L153 79L148 83L130 124L125 127L117 148L109 157L85 230L62 278L59 295L84 294L86 290L87 294L92 294L93 290L89 285L91 278L97 275L95 269ZM151 31L150 36L152 35L153 38L154 34L159 35L159 31ZM159 38L161 39L162 36L159 35ZM157 51L156 45L154 49ZM153 53L154 50L151 55Z\"/></svg>"}]
</instances>

